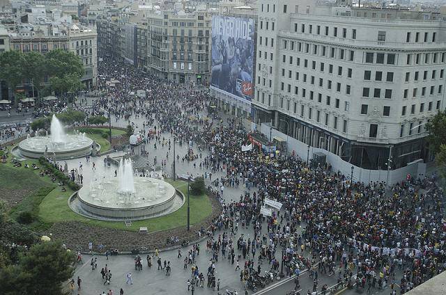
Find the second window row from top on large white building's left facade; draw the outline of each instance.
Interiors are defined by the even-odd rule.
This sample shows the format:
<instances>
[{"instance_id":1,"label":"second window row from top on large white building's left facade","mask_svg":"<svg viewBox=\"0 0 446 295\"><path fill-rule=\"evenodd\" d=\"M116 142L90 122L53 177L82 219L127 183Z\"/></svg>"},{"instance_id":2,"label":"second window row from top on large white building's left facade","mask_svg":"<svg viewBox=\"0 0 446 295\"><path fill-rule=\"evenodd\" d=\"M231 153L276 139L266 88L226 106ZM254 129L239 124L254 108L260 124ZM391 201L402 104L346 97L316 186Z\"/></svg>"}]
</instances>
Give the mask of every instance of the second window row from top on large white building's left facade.
<instances>
[{"instance_id":1,"label":"second window row from top on large white building's left facade","mask_svg":"<svg viewBox=\"0 0 446 295\"><path fill-rule=\"evenodd\" d=\"M312 54L314 56L337 58L343 61L353 61L355 59L354 50L347 50L339 47L327 47L325 45L316 45L307 42L283 40L282 49Z\"/></svg>"}]
</instances>

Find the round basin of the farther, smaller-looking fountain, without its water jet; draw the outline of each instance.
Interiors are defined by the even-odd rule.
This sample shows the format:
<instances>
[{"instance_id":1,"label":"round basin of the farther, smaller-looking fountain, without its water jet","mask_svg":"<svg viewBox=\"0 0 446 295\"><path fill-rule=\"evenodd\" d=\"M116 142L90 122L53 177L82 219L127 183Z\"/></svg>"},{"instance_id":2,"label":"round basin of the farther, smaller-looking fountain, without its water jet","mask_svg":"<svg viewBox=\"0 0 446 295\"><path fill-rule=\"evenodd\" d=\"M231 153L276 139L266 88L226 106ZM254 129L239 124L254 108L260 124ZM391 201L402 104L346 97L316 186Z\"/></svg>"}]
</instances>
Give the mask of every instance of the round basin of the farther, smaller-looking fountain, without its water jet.
<instances>
[{"instance_id":1,"label":"round basin of the farther, smaller-looking fountain, without its water jet","mask_svg":"<svg viewBox=\"0 0 446 295\"><path fill-rule=\"evenodd\" d=\"M47 156L54 154L57 160L86 157L91 154L93 141L81 135L66 134L63 143L53 143L50 136L38 136L26 138L19 143L22 156L33 159L44 157L45 149Z\"/></svg>"}]
</instances>

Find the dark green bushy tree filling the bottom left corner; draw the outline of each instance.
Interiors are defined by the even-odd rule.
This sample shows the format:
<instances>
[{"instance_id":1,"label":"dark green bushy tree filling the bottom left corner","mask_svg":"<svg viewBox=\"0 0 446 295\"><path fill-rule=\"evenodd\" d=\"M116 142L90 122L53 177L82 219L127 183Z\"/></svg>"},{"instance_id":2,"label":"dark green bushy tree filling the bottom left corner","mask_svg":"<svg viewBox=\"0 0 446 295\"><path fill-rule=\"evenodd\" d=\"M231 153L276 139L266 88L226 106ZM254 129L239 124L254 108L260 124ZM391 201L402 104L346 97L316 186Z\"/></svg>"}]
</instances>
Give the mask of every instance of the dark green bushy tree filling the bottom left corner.
<instances>
[{"instance_id":1,"label":"dark green bushy tree filling the bottom left corner","mask_svg":"<svg viewBox=\"0 0 446 295\"><path fill-rule=\"evenodd\" d=\"M62 294L62 282L72 277L74 253L60 241L33 245L20 262L0 270L3 294Z\"/></svg>"}]
</instances>

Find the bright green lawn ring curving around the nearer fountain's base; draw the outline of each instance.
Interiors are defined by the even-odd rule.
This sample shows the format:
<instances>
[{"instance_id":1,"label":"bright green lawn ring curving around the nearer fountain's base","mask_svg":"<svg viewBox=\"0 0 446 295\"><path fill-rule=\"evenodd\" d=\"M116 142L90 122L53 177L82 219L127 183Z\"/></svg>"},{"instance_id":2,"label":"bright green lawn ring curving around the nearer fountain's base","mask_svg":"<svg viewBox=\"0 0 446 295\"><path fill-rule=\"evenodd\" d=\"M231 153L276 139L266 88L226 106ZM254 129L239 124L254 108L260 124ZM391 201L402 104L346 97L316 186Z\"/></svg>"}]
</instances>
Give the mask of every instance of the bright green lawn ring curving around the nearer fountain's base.
<instances>
[{"instance_id":1,"label":"bright green lawn ring curving around the nearer fountain's base","mask_svg":"<svg viewBox=\"0 0 446 295\"><path fill-rule=\"evenodd\" d=\"M170 182L177 189L187 196L187 183L183 181ZM167 216L146 219L144 221L134 221L132 226L126 227L123 222L96 221L93 219L75 214L68 207L68 197L72 192L63 193L60 189L54 189L49 193L43 202L40 203L39 218L43 223L56 223L60 221L81 221L89 225L96 225L104 228L114 228L118 230L138 231L140 227L146 227L149 231L168 230L187 225L187 202L176 212ZM198 223L206 218L211 212L210 200L206 195L190 197L190 223Z\"/></svg>"}]
</instances>

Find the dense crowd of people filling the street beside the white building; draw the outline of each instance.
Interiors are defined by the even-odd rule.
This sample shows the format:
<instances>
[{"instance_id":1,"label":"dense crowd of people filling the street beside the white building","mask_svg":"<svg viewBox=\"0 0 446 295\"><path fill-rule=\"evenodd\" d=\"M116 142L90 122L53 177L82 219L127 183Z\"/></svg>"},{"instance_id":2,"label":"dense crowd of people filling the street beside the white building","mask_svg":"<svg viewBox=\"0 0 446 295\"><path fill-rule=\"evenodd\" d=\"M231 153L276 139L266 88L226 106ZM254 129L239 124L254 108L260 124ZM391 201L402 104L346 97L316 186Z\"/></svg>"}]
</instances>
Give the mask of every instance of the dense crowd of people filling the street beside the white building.
<instances>
[{"instance_id":1,"label":"dense crowd of people filling the street beside the white building","mask_svg":"<svg viewBox=\"0 0 446 295\"><path fill-rule=\"evenodd\" d=\"M242 152L247 131L236 119L223 124L208 113L212 98L206 90L143 76L131 68L123 76L123 65L111 61L100 67L102 95L93 110L111 110L116 120L128 121L151 138L154 148L169 145L170 150L170 136L189 145L190 152L177 160L202 169L206 181L217 186L217 194L224 193L224 186L246 189L240 198L223 203L215 227L224 233L212 236L209 243L214 262L222 253L239 264L234 248L249 257L240 275L245 283L254 257L268 260L274 269L283 258L291 275L298 269L291 262L308 248L312 260L305 264L318 263L312 269L316 290L319 272L337 273L339 282L369 289L390 285L394 292L398 284L403 294L446 269L443 193L433 177L388 189L384 182L350 184L326 167L310 169L299 157L270 157L255 149ZM121 86L108 87L109 79L122 80ZM137 90L146 91L146 97L137 98ZM144 118L144 123L134 124L132 118ZM195 154L194 146L199 149ZM417 190L410 189L413 186ZM282 202L282 210L262 216L265 198ZM254 234L236 239L239 226L252 228Z\"/></svg>"}]
</instances>

